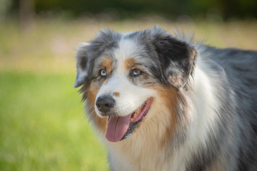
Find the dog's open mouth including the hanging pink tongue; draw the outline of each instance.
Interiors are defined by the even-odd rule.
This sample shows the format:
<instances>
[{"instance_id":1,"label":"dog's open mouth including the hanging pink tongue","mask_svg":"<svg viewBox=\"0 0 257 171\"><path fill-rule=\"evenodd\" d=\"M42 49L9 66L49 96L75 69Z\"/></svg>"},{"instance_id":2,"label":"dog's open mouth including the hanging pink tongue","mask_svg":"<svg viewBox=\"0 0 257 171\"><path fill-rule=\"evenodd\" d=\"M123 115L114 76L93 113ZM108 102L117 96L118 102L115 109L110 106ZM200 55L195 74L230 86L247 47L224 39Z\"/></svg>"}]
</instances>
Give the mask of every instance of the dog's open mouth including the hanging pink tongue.
<instances>
[{"instance_id":1,"label":"dog's open mouth including the hanging pink tongue","mask_svg":"<svg viewBox=\"0 0 257 171\"><path fill-rule=\"evenodd\" d=\"M146 116L152 102L153 98L148 98L146 102L133 113L124 117L109 116L106 139L111 142L117 142L128 138L135 130L136 125L141 123L143 118Z\"/></svg>"}]
</instances>

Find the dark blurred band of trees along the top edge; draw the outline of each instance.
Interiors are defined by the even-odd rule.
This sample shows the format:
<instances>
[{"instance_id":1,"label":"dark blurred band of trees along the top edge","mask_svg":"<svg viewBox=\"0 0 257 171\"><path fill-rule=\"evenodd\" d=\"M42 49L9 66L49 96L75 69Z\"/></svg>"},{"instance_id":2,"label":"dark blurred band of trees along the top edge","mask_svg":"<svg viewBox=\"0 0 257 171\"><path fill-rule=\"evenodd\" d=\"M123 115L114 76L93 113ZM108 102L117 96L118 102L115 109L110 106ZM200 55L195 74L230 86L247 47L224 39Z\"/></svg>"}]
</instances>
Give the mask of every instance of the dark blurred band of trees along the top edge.
<instances>
[{"instance_id":1,"label":"dark blurred band of trees along the top edge","mask_svg":"<svg viewBox=\"0 0 257 171\"><path fill-rule=\"evenodd\" d=\"M3 0L0 0L3 1ZM17 6L13 1L13 8ZM223 19L245 19L257 17L256 0L19 0L21 5L26 5L26 14L33 16L42 11L63 11L70 16L81 14L101 14L114 12L120 19L138 16L138 14L158 14L174 19L181 15L201 16L209 15L216 11ZM33 7L34 4L34 7ZM22 7L22 6L21 6ZM24 7L25 8L25 7ZM214 9L214 10L213 10ZM23 12L21 12L23 14Z\"/></svg>"}]
</instances>

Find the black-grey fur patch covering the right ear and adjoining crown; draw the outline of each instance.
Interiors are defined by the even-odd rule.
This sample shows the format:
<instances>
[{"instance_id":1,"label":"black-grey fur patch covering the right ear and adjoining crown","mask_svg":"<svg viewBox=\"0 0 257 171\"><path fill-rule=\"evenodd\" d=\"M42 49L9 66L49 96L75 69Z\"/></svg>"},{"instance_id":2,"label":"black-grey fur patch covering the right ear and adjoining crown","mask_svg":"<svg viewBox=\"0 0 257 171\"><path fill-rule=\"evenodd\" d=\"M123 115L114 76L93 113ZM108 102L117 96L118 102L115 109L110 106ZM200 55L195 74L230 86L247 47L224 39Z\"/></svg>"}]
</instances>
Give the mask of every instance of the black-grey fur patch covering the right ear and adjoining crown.
<instances>
[{"instance_id":1,"label":"black-grey fur patch covering the right ear and adjoining crown","mask_svg":"<svg viewBox=\"0 0 257 171\"><path fill-rule=\"evenodd\" d=\"M162 83L175 88L186 85L196 54L192 46L158 27L133 32L125 38L143 46L143 59L150 59L147 67Z\"/></svg>"}]
</instances>

